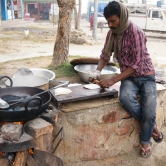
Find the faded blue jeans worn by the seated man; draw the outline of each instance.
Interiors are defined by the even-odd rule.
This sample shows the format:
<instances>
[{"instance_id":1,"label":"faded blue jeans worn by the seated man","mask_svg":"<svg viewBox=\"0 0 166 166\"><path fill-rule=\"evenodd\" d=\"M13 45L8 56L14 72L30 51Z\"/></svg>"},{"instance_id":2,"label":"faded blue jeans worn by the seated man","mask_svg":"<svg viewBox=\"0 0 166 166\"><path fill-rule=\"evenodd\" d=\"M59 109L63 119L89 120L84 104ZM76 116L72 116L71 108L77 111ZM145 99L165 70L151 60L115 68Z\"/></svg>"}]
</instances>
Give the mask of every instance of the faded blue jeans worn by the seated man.
<instances>
[{"instance_id":1,"label":"faded blue jeans worn by the seated man","mask_svg":"<svg viewBox=\"0 0 166 166\"><path fill-rule=\"evenodd\" d=\"M121 81L119 99L124 109L141 122L141 143L150 143L156 120L155 76L129 77Z\"/></svg>"}]
</instances>

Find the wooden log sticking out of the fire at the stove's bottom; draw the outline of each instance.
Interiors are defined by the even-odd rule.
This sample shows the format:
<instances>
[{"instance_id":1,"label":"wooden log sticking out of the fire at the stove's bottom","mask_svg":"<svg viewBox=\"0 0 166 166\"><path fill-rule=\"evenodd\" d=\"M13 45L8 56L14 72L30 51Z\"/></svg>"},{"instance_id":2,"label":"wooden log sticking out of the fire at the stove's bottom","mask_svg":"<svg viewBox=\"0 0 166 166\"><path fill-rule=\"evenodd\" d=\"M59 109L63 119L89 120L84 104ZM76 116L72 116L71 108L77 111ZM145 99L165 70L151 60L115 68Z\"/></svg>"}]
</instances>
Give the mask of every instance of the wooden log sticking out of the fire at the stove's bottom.
<instances>
[{"instance_id":1,"label":"wooden log sticking out of the fire at the stove's bottom","mask_svg":"<svg viewBox=\"0 0 166 166\"><path fill-rule=\"evenodd\" d=\"M13 166L18 166L18 165L19 166L25 166L27 156L28 156L28 151L27 150L17 152Z\"/></svg>"}]
</instances>

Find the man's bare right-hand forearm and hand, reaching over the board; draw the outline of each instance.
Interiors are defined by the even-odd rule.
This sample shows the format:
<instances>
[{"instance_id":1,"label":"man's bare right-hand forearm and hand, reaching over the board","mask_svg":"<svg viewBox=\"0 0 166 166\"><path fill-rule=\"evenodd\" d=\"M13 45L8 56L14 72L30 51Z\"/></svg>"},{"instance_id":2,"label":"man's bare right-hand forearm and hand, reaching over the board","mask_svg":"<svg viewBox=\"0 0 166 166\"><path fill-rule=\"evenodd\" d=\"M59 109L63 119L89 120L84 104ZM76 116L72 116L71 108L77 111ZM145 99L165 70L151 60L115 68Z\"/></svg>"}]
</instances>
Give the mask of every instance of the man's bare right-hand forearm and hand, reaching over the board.
<instances>
[{"instance_id":1,"label":"man's bare right-hand forearm and hand, reaching over the board","mask_svg":"<svg viewBox=\"0 0 166 166\"><path fill-rule=\"evenodd\" d=\"M118 74L117 76L110 78L110 79L103 79L100 80L100 85L102 87L109 87L114 85L116 82L124 80L125 78L133 75L135 70L132 67L128 67L125 71L123 71L121 74Z\"/></svg>"}]
</instances>

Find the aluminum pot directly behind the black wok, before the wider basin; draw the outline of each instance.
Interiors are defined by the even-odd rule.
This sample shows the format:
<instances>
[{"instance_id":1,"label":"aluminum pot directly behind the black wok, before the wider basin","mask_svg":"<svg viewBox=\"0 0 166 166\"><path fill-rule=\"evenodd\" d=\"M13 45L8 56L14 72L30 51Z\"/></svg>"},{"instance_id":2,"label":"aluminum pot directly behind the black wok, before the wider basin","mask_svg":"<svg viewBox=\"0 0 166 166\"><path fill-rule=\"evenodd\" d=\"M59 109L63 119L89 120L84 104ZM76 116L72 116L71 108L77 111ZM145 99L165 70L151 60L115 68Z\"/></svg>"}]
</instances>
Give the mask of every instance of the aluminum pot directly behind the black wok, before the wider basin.
<instances>
[{"instance_id":1,"label":"aluminum pot directly behind the black wok, before the wider basin","mask_svg":"<svg viewBox=\"0 0 166 166\"><path fill-rule=\"evenodd\" d=\"M37 77L37 76L20 76L11 78L13 82L12 87L37 87L43 90L49 89L49 80L44 77ZM5 82L6 86L10 86L10 80Z\"/></svg>"}]
</instances>

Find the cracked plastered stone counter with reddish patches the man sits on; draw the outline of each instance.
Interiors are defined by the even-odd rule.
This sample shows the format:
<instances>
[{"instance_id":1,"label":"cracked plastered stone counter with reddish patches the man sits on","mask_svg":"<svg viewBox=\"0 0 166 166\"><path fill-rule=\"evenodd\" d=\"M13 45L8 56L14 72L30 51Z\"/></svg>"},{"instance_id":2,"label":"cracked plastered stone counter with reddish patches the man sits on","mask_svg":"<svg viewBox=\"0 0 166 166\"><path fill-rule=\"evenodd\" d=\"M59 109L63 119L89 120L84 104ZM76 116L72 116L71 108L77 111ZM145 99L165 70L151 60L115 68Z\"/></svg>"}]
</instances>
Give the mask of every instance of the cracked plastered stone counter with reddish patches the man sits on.
<instances>
[{"instance_id":1,"label":"cracked plastered stone counter with reddish patches the man sits on","mask_svg":"<svg viewBox=\"0 0 166 166\"><path fill-rule=\"evenodd\" d=\"M159 127L166 119L165 98L166 90L157 92ZM123 109L118 99L103 97L66 103L59 110L56 128L62 126L64 139L55 155L65 166L109 166L108 159L140 144L140 123Z\"/></svg>"}]
</instances>

